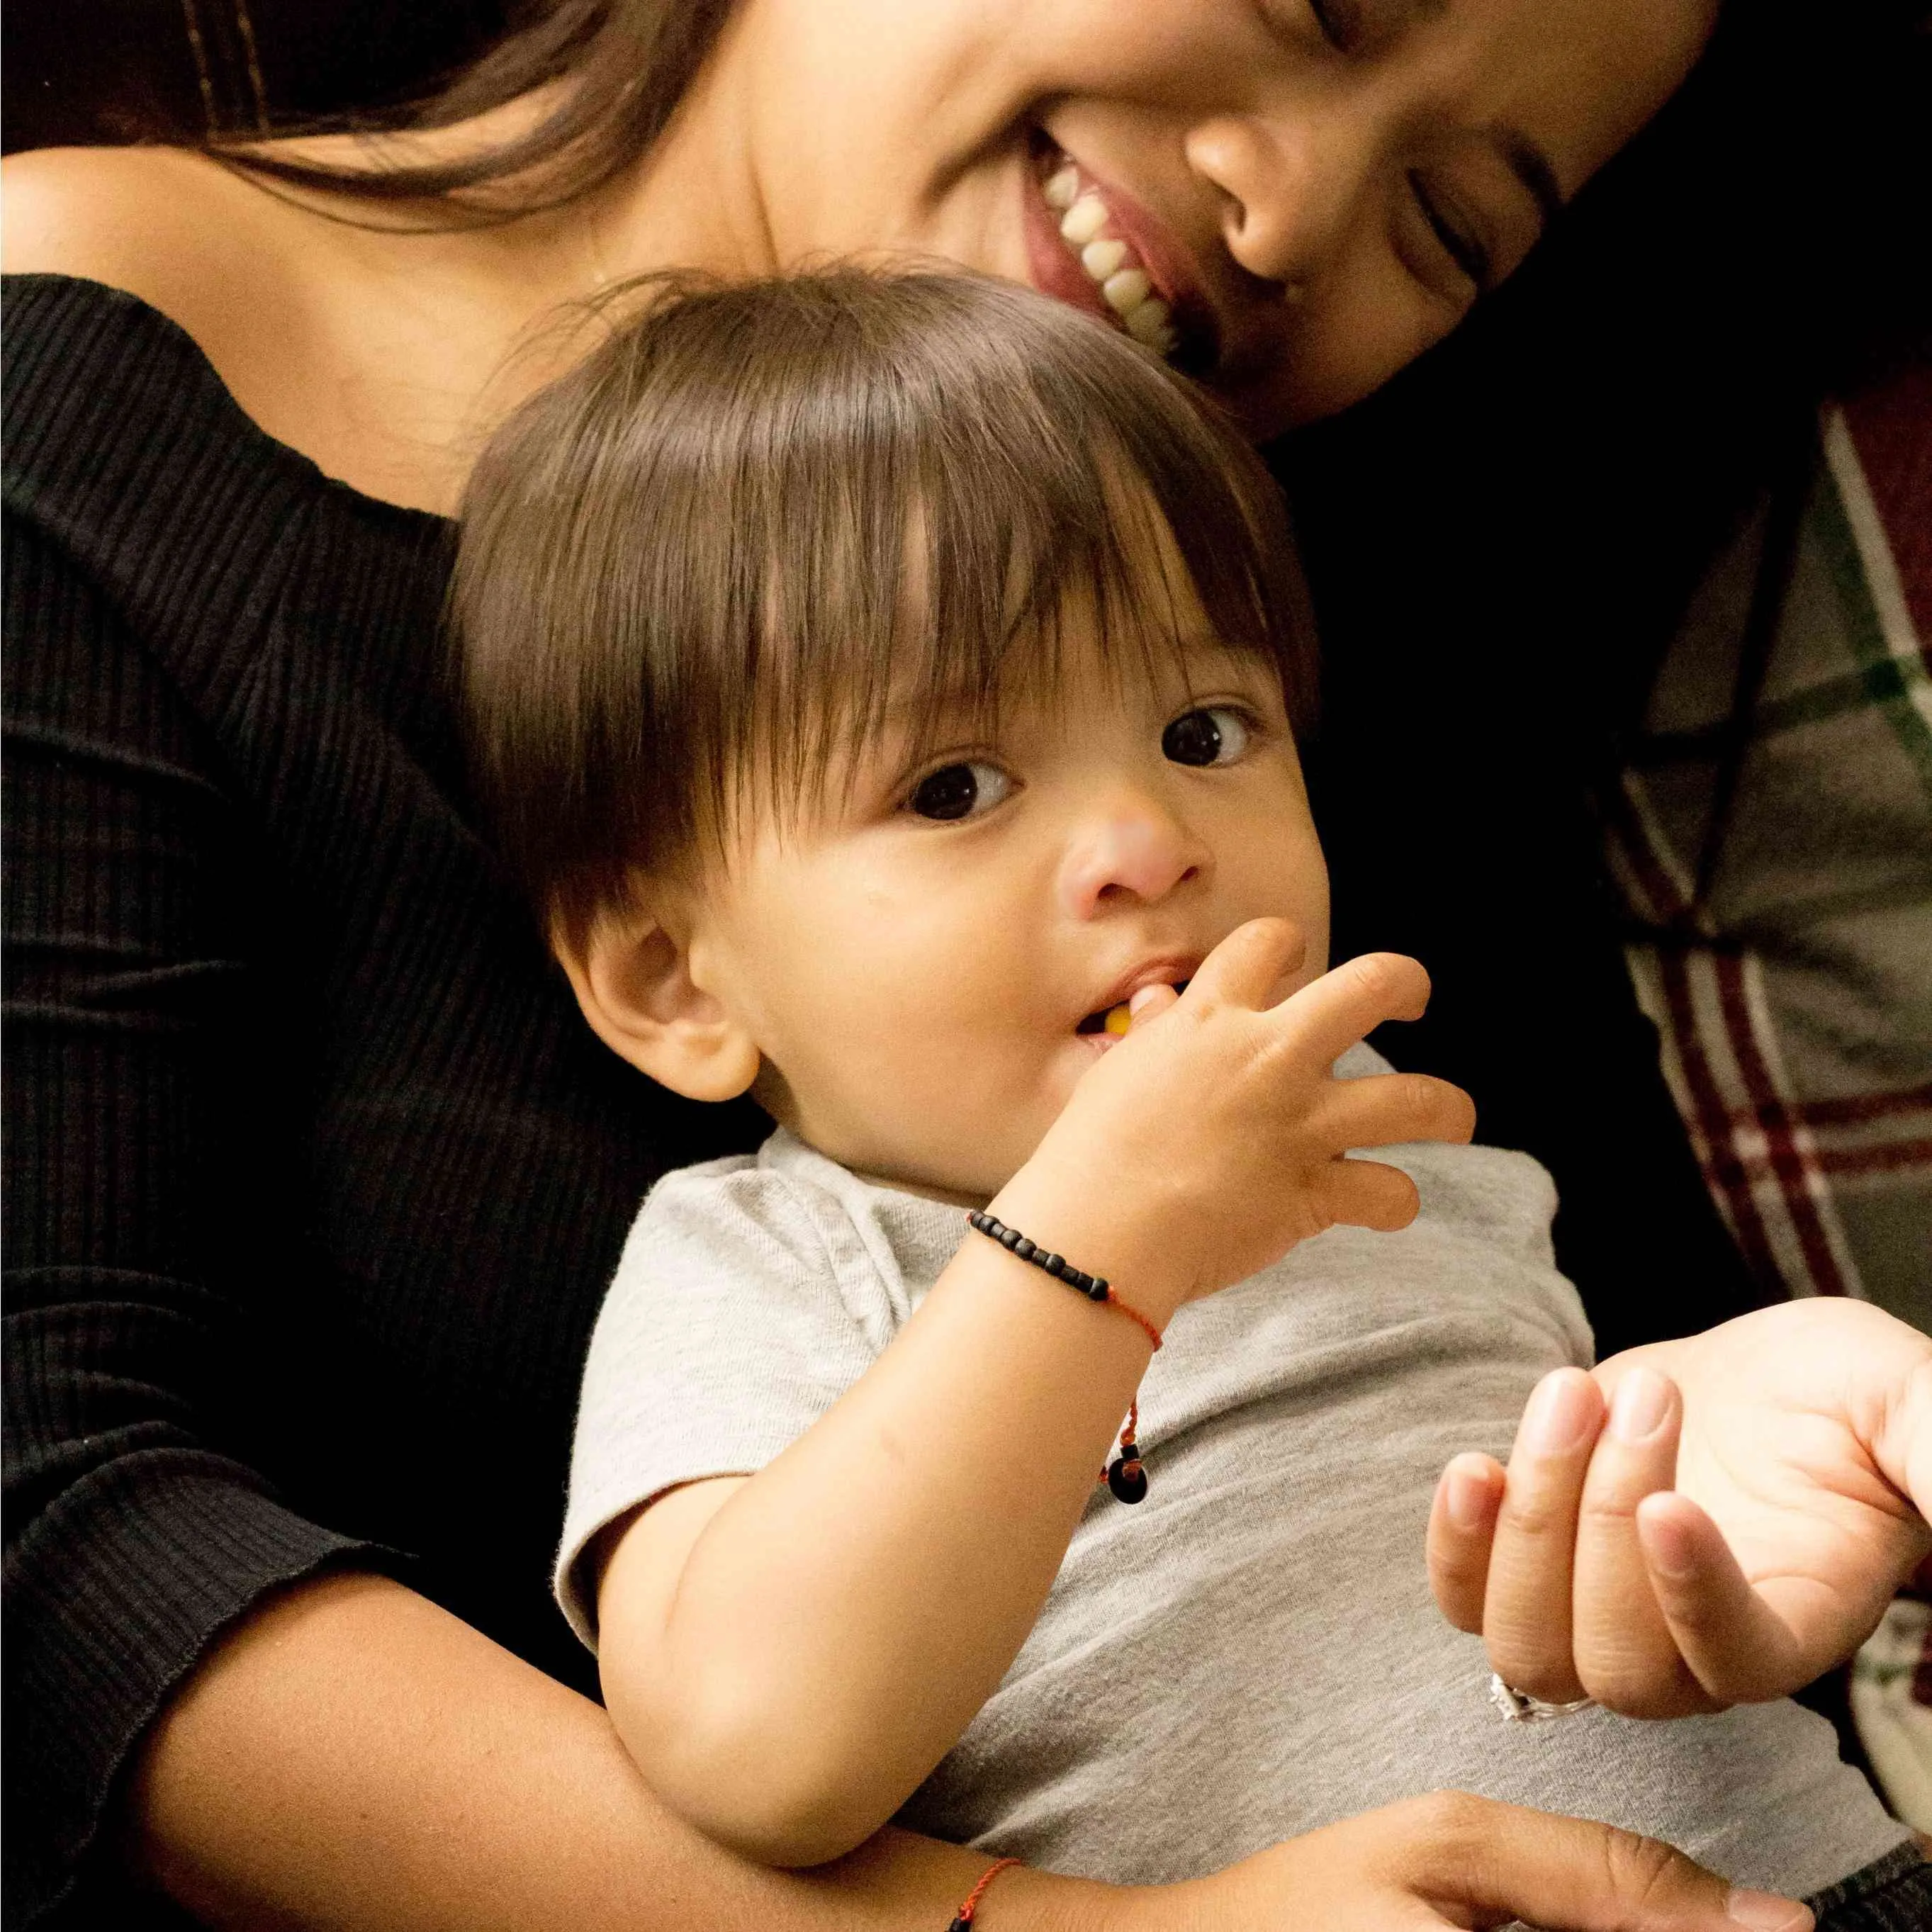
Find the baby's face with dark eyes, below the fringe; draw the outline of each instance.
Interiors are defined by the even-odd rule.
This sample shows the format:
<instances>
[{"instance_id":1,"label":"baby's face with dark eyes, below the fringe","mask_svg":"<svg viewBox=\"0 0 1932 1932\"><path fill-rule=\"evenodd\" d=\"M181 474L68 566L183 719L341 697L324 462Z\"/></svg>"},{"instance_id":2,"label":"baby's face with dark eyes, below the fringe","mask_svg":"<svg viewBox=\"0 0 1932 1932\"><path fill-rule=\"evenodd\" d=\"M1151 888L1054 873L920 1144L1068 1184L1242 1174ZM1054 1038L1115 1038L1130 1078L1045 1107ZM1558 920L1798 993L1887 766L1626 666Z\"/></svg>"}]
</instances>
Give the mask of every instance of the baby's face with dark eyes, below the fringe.
<instances>
[{"instance_id":1,"label":"baby's face with dark eyes, below the fringe","mask_svg":"<svg viewBox=\"0 0 1932 1932\"><path fill-rule=\"evenodd\" d=\"M1105 1053L1105 1012L1246 920L1327 952L1327 873L1273 667L1198 647L960 721L918 763L734 840L694 887L690 970L763 1057L757 1097L860 1173L991 1198Z\"/></svg>"}]
</instances>

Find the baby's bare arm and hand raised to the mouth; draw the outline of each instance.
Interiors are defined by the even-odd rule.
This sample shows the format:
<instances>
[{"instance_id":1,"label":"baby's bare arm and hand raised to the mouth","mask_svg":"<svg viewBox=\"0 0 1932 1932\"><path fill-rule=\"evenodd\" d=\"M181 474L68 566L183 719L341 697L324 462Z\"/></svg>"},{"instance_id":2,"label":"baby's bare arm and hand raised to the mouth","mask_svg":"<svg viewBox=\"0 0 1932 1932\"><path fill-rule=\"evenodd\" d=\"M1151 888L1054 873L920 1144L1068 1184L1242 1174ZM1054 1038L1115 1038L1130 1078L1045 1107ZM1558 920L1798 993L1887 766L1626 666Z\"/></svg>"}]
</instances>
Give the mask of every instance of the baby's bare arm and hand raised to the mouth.
<instances>
[{"instance_id":1,"label":"baby's bare arm and hand raised to the mouth","mask_svg":"<svg viewBox=\"0 0 1932 1932\"><path fill-rule=\"evenodd\" d=\"M1405 1225L1408 1177L1345 1150L1466 1138L1468 1101L1329 1066L1420 1014L1428 981L1374 956L1269 1007L1294 951L1281 922L1231 935L1080 1082L991 1211L1155 1325L1335 1221ZM653 1787L767 1862L837 1857L889 1820L1026 1640L1148 1358L1121 1310L970 1236L806 1435L612 1532L603 1687Z\"/></svg>"}]
</instances>

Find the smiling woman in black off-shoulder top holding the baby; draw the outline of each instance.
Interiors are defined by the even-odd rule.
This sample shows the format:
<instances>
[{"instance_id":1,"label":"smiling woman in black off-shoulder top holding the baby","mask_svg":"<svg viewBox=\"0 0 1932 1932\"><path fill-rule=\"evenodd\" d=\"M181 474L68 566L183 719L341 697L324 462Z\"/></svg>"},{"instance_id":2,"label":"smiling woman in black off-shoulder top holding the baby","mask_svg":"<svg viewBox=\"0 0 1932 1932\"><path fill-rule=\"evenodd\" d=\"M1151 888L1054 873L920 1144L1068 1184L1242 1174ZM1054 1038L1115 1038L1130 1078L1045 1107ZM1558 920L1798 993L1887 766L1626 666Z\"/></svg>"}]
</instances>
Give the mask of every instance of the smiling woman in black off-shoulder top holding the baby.
<instances>
[{"instance_id":1,"label":"smiling woman in black off-shoulder top holding the baby","mask_svg":"<svg viewBox=\"0 0 1932 1932\"><path fill-rule=\"evenodd\" d=\"M1258 435L1341 408L1509 274L1710 12L566 6L365 182L330 143L10 170L8 267L50 276L10 317L23 1918L99 1918L126 1864L232 1924L945 1922L981 1861L748 1872L572 1689L543 1580L583 1337L649 1179L719 1140L580 1039L468 827L439 518L570 354L545 319L667 267L918 249L1124 290ZM989 1911L1422 1899L1723 1918L1652 1853L1457 1803L1188 1895L1026 1874Z\"/></svg>"}]
</instances>

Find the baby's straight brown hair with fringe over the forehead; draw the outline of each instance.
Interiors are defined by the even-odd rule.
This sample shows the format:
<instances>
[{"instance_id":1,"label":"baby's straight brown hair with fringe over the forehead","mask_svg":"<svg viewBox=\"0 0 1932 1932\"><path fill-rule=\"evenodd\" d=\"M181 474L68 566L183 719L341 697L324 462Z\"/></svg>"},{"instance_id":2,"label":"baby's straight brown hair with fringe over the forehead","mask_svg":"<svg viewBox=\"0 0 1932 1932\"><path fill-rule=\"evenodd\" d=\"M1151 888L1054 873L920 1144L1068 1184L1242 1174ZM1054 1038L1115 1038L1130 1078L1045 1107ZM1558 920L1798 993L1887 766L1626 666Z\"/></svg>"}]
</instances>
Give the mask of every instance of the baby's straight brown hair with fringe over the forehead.
<instances>
[{"instance_id":1,"label":"baby's straight brown hair with fringe over the forehead","mask_svg":"<svg viewBox=\"0 0 1932 1932\"><path fill-rule=\"evenodd\" d=\"M452 585L498 850L582 931L753 800L819 796L889 721L1206 634L1308 719L1287 512L1215 406L1005 282L835 269L657 284L477 462ZM1184 582L1180 582L1184 576Z\"/></svg>"}]
</instances>

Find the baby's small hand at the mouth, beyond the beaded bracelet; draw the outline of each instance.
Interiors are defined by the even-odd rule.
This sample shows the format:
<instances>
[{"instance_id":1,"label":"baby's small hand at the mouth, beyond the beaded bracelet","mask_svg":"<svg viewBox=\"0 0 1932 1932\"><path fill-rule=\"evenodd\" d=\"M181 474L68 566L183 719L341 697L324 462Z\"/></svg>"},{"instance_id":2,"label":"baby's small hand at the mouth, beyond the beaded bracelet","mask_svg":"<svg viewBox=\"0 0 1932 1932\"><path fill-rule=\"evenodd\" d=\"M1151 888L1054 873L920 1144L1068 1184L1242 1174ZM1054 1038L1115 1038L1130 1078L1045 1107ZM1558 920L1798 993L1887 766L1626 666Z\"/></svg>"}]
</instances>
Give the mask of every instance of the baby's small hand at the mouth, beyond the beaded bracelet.
<instances>
[{"instance_id":1,"label":"baby's small hand at the mouth, beyond the beaded bracelet","mask_svg":"<svg viewBox=\"0 0 1932 1932\"><path fill-rule=\"evenodd\" d=\"M1420 1018L1428 974L1370 952L1273 1005L1300 958L1293 925L1254 920L1179 999L1144 997L993 1213L1157 1314L1337 1221L1406 1227L1408 1175L1347 1151L1468 1140L1474 1107L1424 1074L1335 1080L1329 1068L1383 1020Z\"/></svg>"}]
</instances>

